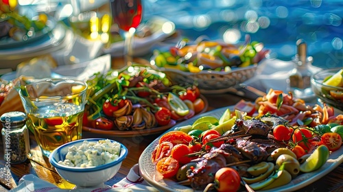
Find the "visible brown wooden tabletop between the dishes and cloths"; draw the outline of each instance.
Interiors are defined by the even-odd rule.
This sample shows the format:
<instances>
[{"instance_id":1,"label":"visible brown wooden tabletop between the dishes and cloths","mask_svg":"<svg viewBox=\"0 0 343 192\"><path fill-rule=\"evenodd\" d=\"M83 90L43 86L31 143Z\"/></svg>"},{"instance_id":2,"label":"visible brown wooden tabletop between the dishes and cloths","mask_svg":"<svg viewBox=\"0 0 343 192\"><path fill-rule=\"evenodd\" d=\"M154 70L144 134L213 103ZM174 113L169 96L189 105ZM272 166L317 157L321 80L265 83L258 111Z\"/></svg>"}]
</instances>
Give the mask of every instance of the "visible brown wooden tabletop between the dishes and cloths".
<instances>
[{"instance_id":1,"label":"visible brown wooden tabletop between the dishes and cloths","mask_svg":"<svg viewBox=\"0 0 343 192\"><path fill-rule=\"evenodd\" d=\"M141 58L135 58L134 61L144 62L144 60L142 60ZM118 63L123 63L120 58L113 58L112 63L115 64L115 66L113 65L112 68L123 67L118 65ZM227 93L202 95L204 96L204 98L206 98L207 101L206 111L211 111L217 108L234 106L241 99L254 102L257 97L261 97L261 92L254 89L244 89L240 93L229 91ZM123 137L83 131L82 138L113 139L115 141L123 143L123 145L128 148L128 156L125 160L123 160L118 173L114 176L114 178L111 178L108 181L110 184L114 184L115 182L119 182L122 178L126 178L130 169L134 165L137 165L139 163L139 157L141 156L145 148L148 147L153 141L158 139L158 136L161 136L161 134L163 134L163 132L154 132L152 134L144 135L135 134L133 136ZM4 176L4 151L0 150L0 171L2 171L0 172L0 191L9 191L10 189L14 189L18 185L20 178L27 174L33 174L34 176L37 176L42 180L55 184L61 189L73 189L75 185L62 179L56 172L54 167L50 165L49 159L42 155L42 153L40 152L40 148L38 147L34 139L34 134L32 134L31 132L29 133L29 143L30 152L27 160L24 163L13 164L10 166L10 171L12 174L10 181L7 180L6 176ZM3 148L2 141L0 142L0 145L1 148ZM327 176L323 176L322 178L316 180L316 182L311 182L311 184L307 185L303 189L298 189L298 192L300 191L343 191L343 164L340 164L338 167L333 169L333 171L328 173Z\"/></svg>"}]
</instances>

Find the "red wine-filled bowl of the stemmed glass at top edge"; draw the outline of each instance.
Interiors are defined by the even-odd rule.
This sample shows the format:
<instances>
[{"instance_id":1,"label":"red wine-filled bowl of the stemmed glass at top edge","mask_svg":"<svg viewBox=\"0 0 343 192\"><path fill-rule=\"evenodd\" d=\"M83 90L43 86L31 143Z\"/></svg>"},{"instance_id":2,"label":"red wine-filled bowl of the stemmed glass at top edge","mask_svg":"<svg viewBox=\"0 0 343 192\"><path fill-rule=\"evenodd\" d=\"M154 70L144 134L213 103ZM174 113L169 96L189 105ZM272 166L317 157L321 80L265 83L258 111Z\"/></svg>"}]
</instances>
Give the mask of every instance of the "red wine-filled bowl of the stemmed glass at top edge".
<instances>
[{"instance_id":1,"label":"red wine-filled bowl of the stemmed glass at top edge","mask_svg":"<svg viewBox=\"0 0 343 192\"><path fill-rule=\"evenodd\" d=\"M137 28L141 23L143 10L141 0L114 0L111 8L115 23L126 32L131 27Z\"/></svg>"}]
</instances>

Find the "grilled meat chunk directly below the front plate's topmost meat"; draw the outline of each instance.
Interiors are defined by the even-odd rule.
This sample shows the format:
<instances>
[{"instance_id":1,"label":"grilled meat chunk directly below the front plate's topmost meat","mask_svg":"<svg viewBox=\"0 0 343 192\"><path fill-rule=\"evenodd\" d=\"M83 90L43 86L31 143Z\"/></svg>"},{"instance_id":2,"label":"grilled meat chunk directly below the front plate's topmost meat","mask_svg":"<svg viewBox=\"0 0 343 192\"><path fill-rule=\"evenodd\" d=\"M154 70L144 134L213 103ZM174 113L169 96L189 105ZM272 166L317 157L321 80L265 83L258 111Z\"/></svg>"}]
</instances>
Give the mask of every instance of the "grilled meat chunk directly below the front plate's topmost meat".
<instances>
[{"instance_id":1,"label":"grilled meat chunk directly below the front plate's topmost meat","mask_svg":"<svg viewBox=\"0 0 343 192\"><path fill-rule=\"evenodd\" d=\"M259 163L268 158L268 153L265 151L265 148L260 147L258 143L246 139L237 139L236 143L237 145L235 147L239 152L255 163Z\"/></svg>"}]
</instances>

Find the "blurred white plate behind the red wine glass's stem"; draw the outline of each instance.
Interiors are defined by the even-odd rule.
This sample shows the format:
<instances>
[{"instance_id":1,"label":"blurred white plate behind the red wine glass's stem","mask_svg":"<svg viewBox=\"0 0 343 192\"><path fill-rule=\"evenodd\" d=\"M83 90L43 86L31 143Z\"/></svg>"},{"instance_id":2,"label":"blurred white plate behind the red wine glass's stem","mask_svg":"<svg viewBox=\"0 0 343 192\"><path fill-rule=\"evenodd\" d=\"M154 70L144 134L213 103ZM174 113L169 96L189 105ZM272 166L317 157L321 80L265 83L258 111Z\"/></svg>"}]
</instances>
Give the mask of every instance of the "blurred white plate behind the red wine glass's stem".
<instances>
[{"instance_id":1,"label":"blurred white plate behind the red wine glass's stem","mask_svg":"<svg viewBox=\"0 0 343 192\"><path fill-rule=\"evenodd\" d=\"M152 34L144 38L134 38L132 46L134 56L145 55L150 51L154 44L165 40L165 38L171 36L171 34L174 34L175 32L175 24L159 16L154 16L149 19L149 21L142 23L141 25L147 25ZM113 57L119 57L123 56L123 47L124 42L119 41L117 43L113 43L110 48L104 49L103 51L104 53L110 53Z\"/></svg>"}]
</instances>

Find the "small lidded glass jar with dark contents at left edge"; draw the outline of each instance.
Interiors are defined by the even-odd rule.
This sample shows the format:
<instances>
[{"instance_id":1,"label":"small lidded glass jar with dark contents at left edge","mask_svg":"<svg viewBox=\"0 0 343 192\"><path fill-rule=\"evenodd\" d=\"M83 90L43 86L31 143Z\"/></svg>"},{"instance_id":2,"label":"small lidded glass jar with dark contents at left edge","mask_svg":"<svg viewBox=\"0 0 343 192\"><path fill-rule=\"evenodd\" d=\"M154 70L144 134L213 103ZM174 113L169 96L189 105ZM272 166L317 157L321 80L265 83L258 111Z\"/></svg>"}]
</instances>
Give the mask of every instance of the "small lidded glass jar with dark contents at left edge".
<instances>
[{"instance_id":1,"label":"small lidded glass jar with dark contents at left edge","mask_svg":"<svg viewBox=\"0 0 343 192\"><path fill-rule=\"evenodd\" d=\"M25 125L27 116L24 112L5 112L0 117L3 125L4 160L7 164L23 163L29 154L29 131Z\"/></svg>"}]
</instances>

